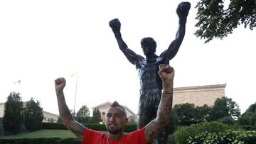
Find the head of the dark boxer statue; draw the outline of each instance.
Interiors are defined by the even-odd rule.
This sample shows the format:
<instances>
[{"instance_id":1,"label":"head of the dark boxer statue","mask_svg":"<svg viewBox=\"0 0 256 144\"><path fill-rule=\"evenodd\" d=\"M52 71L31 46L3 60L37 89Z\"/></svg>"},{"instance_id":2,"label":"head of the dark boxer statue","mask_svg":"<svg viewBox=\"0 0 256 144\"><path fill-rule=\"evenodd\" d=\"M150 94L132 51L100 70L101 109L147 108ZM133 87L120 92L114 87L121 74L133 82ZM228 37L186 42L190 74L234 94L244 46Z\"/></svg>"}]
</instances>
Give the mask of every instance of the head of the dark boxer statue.
<instances>
[{"instance_id":1,"label":"head of the dark boxer statue","mask_svg":"<svg viewBox=\"0 0 256 144\"><path fill-rule=\"evenodd\" d=\"M156 52L156 41L153 38L142 38L141 44L144 55L151 55Z\"/></svg>"}]
</instances>

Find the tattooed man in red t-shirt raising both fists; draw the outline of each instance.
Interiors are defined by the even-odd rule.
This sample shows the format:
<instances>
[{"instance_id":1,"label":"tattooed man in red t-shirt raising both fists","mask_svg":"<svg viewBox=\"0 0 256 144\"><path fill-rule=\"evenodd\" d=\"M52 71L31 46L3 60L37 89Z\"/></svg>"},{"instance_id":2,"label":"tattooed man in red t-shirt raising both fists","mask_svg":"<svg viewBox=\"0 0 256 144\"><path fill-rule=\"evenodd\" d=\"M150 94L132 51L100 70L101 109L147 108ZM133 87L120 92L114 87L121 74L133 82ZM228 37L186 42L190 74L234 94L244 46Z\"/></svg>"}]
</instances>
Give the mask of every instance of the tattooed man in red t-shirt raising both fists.
<instances>
[{"instance_id":1,"label":"tattooed man in red t-shirt raising both fists","mask_svg":"<svg viewBox=\"0 0 256 144\"><path fill-rule=\"evenodd\" d=\"M159 65L159 76L162 79L162 95L156 118L150 121L144 128L129 134L124 134L124 125L127 123L127 113L123 106L117 101L107 109L106 128L108 134L93 131L75 121L67 104L63 89L65 79L58 78L55 80L55 91L58 99L58 108L60 118L63 124L84 144L146 144L151 143L154 138L164 131L170 123L170 113L173 99L174 69L169 65Z\"/></svg>"}]
</instances>

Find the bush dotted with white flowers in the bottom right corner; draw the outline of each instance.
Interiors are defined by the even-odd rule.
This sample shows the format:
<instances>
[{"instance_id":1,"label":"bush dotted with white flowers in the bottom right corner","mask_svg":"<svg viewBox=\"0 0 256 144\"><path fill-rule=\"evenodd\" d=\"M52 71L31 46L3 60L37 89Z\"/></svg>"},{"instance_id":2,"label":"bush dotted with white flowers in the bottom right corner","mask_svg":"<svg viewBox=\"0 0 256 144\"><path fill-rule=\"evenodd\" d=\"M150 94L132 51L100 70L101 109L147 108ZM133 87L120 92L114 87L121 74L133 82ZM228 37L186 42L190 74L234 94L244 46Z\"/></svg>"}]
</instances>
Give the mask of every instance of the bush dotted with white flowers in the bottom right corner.
<instances>
[{"instance_id":1,"label":"bush dotted with white flowers in the bottom right corner","mask_svg":"<svg viewBox=\"0 0 256 144\"><path fill-rule=\"evenodd\" d=\"M256 143L256 131L225 131L219 133L204 132L194 137L189 137L187 142L188 144L254 144Z\"/></svg>"}]
</instances>

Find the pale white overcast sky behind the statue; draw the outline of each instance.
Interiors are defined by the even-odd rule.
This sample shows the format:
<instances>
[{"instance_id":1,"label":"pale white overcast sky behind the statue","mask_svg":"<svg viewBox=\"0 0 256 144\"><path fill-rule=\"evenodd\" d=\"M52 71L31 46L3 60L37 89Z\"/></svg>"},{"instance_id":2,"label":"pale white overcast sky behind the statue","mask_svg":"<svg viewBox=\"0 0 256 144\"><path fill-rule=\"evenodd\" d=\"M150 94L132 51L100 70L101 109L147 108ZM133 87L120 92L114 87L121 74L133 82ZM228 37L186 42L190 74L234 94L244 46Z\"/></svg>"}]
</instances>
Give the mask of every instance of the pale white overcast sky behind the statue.
<instances>
[{"instance_id":1,"label":"pale white overcast sky behind the statue","mask_svg":"<svg viewBox=\"0 0 256 144\"><path fill-rule=\"evenodd\" d=\"M118 101L137 113L137 70L119 50L108 22L119 18L122 38L137 54L143 55L140 40L150 36L160 55L175 38L180 2L0 1L0 102L20 92L23 101L33 97L44 111L58 113L54 80L65 77L70 109L76 96L75 111ZM239 26L227 38L205 44L193 34L196 1L190 2L185 38L170 61L174 87L227 84L225 96L244 112L256 102L256 32ZM70 77L75 72L77 83Z\"/></svg>"}]
</instances>

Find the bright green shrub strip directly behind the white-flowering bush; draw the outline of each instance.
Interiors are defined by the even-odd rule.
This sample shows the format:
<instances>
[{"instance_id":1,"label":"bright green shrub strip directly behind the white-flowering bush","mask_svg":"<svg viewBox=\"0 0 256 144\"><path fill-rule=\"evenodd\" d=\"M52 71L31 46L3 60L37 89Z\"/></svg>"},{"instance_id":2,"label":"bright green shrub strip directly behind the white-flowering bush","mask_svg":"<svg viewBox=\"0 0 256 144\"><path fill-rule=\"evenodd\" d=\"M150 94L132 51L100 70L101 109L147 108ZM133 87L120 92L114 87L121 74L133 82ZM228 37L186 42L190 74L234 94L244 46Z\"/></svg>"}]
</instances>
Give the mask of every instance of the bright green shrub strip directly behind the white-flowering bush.
<instances>
[{"instance_id":1,"label":"bright green shrub strip directly behind the white-flowering bush","mask_svg":"<svg viewBox=\"0 0 256 144\"><path fill-rule=\"evenodd\" d=\"M176 144L186 144L188 137L193 137L205 131L208 132L220 132L226 131L230 127L224 123L212 121L212 122L203 122L199 124L192 124L191 126L182 126L174 132L174 138Z\"/></svg>"}]
</instances>

